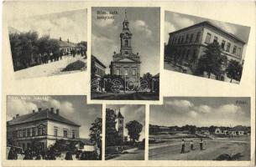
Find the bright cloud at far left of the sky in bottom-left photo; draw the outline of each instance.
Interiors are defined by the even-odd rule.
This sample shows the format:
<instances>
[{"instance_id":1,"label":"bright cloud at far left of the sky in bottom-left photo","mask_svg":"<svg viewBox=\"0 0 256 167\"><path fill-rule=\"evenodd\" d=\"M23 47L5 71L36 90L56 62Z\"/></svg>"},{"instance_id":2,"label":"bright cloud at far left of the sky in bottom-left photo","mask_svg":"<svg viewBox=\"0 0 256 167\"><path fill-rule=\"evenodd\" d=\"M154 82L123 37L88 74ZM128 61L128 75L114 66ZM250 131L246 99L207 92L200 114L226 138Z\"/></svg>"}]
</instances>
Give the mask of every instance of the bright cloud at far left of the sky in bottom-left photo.
<instances>
[{"instance_id":1,"label":"bright cloud at far left of the sky in bottom-left photo","mask_svg":"<svg viewBox=\"0 0 256 167\"><path fill-rule=\"evenodd\" d=\"M25 100L21 99L13 99L9 100L7 103L7 109L8 109L8 116L13 117L16 114L23 115L32 113L33 109L37 109L37 105L31 102L27 102Z\"/></svg>"}]
</instances>

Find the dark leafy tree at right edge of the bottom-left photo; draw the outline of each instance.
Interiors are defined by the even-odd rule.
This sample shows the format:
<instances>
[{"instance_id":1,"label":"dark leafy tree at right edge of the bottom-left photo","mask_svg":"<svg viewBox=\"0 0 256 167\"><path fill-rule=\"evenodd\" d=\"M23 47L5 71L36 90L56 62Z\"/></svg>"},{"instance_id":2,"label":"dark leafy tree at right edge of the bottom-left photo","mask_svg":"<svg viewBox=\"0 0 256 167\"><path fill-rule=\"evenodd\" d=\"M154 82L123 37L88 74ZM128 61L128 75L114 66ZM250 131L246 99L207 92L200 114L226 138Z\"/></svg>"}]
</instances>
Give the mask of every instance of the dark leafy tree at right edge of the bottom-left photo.
<instances>
[{"instance_id":1,"label":"dark leafy tree at right edge of the bottom-left photo","mask_svg":"<svg viewBox=\"0 0 256 167\"><path fill-rule=\"evenodd\" d=\"M97 118L91 124L90 128L90 140L92 144L97 145L100 149L99 157L102 157L102 118Z\"/></svg>"}]
</instances>

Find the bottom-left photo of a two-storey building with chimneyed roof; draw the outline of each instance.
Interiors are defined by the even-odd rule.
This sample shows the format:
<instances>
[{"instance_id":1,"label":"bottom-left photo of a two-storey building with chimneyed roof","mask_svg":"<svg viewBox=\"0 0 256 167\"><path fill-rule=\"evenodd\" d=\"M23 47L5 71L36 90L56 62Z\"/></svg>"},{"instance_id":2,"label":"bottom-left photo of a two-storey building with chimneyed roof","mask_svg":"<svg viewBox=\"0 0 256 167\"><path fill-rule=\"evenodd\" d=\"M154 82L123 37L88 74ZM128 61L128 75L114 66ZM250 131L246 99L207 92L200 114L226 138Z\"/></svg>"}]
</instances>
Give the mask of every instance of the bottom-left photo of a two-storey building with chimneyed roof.
<instances>
[{"instance_id":1,"label":"bottom-left photo of a two-storey building with chimneyed roof","mask_svg":"<svg viewBox=\"0 0 256 167\"><path fill-rule=\"evenodd\" d=\"M102 105L86 96L8 96L7 159L101 160Z\"/></svg>"}]
</instances>

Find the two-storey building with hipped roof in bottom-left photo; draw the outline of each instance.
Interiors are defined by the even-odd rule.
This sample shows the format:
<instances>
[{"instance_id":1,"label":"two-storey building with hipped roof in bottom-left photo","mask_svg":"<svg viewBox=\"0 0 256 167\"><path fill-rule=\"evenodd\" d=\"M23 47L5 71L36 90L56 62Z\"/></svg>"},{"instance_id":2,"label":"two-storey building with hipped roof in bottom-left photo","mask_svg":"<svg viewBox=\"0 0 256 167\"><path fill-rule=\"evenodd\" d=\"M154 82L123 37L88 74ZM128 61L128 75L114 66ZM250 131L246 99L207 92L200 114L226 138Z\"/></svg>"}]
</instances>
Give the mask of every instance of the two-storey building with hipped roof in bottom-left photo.
<instances>
[{"instance_id":1,"label":"two-storey building with hipped roof in bottom-left photo","mask_svg":"<svg viewBox=\"0 0 256 167\"><path fill-rule=\"evenodd\" d=\"M27 149L37 141L46 149L57 139L79 141L79 128L79 124L62 117L59 109L39 108L30 114L17 114L7 122L7 142Z\"/></svg>"}]
</instances>

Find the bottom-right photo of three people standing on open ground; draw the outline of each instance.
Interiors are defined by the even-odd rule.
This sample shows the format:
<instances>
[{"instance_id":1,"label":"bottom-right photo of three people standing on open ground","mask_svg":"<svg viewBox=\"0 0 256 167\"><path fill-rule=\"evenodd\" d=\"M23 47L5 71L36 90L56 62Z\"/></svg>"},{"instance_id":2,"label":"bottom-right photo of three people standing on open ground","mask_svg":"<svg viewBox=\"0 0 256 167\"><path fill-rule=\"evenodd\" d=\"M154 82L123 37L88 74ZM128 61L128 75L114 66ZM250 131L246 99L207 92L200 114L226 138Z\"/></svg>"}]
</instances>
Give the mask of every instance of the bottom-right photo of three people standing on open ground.
<instances>
[{"instance_id":1,"label":"bottom-right photo of three people standing on open ground","mask_svg":"<svg viewBox=\"0 0 256 167\"><path fill-rule=\"evenodd\" d=\"M251 159L250 98L173 97L150 105L149 160Z\"/></svg>"}]
</instances>

